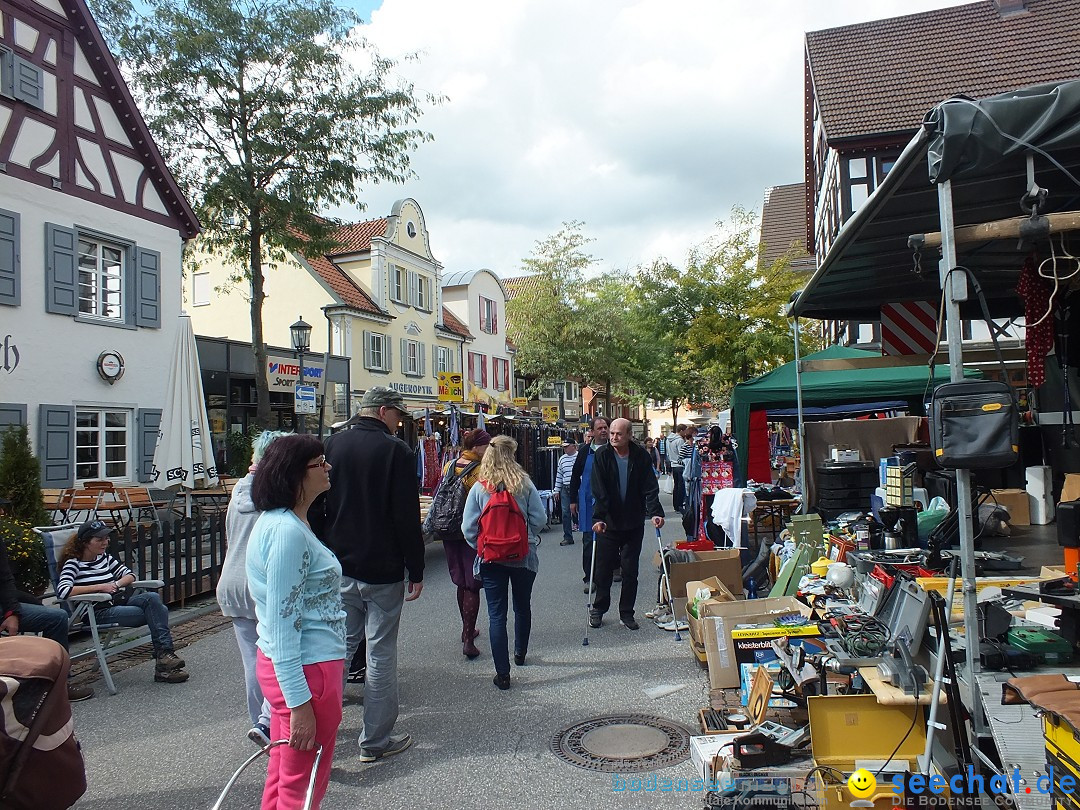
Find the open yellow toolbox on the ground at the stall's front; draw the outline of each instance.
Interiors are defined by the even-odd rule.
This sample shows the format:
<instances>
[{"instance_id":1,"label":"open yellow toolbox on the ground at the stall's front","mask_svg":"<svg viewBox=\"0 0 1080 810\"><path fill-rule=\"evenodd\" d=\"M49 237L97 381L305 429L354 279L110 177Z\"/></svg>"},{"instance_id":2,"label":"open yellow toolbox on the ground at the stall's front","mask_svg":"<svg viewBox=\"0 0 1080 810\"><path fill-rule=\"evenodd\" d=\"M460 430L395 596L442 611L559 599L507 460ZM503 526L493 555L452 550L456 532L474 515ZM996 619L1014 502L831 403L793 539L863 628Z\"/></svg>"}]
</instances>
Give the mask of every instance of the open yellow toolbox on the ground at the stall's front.
<instances>
[{"instance_id":1,"label":"open yellow toolbox on the ground at the stall's front","mask_svg":"<svg viewBox=\"0 0 1080 810\"><path fill-rule=\"evenodd\" d=\"M815 766L840 771L847 779L856 760L882 764L895 750L894 764L906 761L918 770L918 757L927 745L923 706L882 705L873 694L829 694L809 698L807 711ZM892 777L883 773L867 798L876 808L891 808L901 797ZM847 810L856 797L846 784L831 784L820 787L816 798L820 808Z\"/></svg>"}]
</instances>

